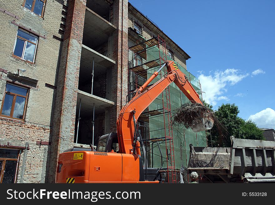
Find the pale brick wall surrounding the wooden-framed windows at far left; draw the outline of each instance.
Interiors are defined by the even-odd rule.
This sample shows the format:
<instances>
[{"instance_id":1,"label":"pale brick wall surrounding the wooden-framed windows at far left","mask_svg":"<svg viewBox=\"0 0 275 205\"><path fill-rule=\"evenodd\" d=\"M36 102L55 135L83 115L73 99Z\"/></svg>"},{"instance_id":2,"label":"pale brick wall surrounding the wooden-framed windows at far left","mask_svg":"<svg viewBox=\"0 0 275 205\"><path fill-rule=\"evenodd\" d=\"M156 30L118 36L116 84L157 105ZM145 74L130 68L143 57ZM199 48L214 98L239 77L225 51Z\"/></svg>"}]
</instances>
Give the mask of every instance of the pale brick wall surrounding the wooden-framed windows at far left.
<instances>
[{"instance_id":1,"label":"pale brick wall surrounding the wooden-framed windows at far left","mask_svg":"<svg viewBox=\"0 0 275 205\"><path fill-rule=\"evenodd\" d=\"M8 73L17 74L17 69L26 71L20 72L20 76L36 80L36 88L30 88L27 109L24 122L19 120L8 120L0 118L0 144L25 146L29 143L29 150L22 150L18 164L17 182L21 181L21 174L24 173L22 182L44 182L45 169L43 162L47 160L48 145L38 145L36 141L49 141L52 127L51 116L53 107L54 89L45 86L45 83L55 85L57 67L59 60L59 49L61 42L53 36L62 37L58 32L61 18L63 17L64 1L47 1L44 16L39 17L28 9L24 8L24 0L8 1L0 0L0 8L8 12L0 12L0 62L1 69ZM9 12L17 16L9 15ZM35 63L12 57L16 40L18 26L12 22L31 29L33 32L45 37L39 37ZM0 104L6 87L7 73L0 72ZM23 155L26 153L26 166L22 170Z\"/></svg>"}]
</instances>

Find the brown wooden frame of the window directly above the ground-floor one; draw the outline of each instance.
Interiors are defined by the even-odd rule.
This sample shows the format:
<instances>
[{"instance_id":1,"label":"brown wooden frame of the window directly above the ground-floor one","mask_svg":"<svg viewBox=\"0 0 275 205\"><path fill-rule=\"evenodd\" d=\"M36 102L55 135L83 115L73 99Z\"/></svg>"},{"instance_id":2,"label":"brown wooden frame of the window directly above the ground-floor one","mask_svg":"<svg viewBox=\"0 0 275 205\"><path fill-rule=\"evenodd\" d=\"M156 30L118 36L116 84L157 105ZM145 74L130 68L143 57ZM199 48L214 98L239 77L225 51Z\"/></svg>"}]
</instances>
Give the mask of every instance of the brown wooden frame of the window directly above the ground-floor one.
<instances>
[{"instance_id":1,"label":"brown wooden frame of the window directly above the ground-floor one","mask_svg":"<svg viewBox=\"0 0 275 205\"><path fill-rule=\"evenodd\" d=\"M27 94L26 94L26 96L23 96L23 95L19 95L19 94L16 94L16 93L7 92L7 91L6 91L7 85L6 85L4 97L3 97L3 100L2 100L1 110L0 110L0 117L24 121L24 120L25 120L25 113L26 113L26 105L27 105L27 100L28 100L28 94L29 94L29 90L30 90L30 89L27 88L27 87L20 86L20 85L16 85L16 84L12 84L12 83L7 83L7 84L10 84L10 85L14 85L14 86L17 86L17 87L21 87L21 88L27 89ZM5 100L5 96L6 96L7 93L8 93L9 95L13 95L11 114L10 114L10 115L2 115L2 109L3 109L3 105L4 105L4 100ZM17 96L26 98L22 119L12 117L13 112L14 112L14 105L15 105L16 97L17 97Z\"/></svg>"}]
</instances>

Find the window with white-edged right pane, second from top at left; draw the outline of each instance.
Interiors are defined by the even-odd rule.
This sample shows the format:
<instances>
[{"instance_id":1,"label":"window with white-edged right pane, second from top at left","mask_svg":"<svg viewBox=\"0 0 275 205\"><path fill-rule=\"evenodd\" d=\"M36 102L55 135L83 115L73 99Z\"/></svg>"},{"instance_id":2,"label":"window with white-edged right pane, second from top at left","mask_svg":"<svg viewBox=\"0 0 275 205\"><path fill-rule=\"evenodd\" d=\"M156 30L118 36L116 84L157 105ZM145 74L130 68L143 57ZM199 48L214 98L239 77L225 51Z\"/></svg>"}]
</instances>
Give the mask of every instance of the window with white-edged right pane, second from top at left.
<instances>
[{"instance_id":1,"label":"window with white-edged right pane, second from top at left","mask_svg":"<svg viewBox=\"0 0 275 205\"><path fill-rule=\"evenodd\" d=\"M34 62L38 37L18 29L13 55Z\"/></svg>"}]
</instances>

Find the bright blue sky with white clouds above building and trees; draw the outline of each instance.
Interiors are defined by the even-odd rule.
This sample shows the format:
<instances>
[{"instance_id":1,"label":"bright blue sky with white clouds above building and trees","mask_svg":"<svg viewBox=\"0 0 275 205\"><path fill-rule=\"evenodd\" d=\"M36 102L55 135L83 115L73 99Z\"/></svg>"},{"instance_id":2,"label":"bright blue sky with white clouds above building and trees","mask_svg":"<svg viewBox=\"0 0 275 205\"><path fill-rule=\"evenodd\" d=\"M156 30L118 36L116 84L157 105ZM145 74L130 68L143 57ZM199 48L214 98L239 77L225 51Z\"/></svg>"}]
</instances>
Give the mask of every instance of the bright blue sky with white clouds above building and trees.
<instances>
[{"instance_id":1,"label":"bright blue sky with white clouds above building and trees","mask_svg":"<svg viewBox=\"0 0 275 205\"><path fill-rule=\"evenodd\" d=\"M191 59L204 99L275 128L275 1L129 0Z\"/></svg>"}]
</instances>

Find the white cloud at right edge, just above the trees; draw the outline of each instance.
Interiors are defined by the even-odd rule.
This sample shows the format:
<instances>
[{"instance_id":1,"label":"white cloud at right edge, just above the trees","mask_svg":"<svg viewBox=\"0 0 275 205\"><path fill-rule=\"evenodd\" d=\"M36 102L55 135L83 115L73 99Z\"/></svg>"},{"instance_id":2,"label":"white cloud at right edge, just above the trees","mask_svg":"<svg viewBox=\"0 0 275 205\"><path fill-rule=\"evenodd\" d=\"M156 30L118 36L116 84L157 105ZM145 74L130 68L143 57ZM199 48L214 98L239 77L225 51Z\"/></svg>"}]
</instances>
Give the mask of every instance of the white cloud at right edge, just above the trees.
<instances>
[{"instance_id":1,"label":"white cloud at right edge, just above the trees","mask_svg":"<svg viewBox=\"0 0 275 205\"><path fill-rule=\"evenodd\" d=\"M252 120L258 127L275 129L275 110L267 108L254 115L250 115L248 120Z\"/></svg>"}]
</instances>

